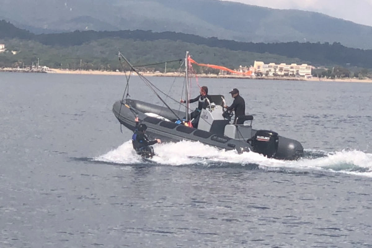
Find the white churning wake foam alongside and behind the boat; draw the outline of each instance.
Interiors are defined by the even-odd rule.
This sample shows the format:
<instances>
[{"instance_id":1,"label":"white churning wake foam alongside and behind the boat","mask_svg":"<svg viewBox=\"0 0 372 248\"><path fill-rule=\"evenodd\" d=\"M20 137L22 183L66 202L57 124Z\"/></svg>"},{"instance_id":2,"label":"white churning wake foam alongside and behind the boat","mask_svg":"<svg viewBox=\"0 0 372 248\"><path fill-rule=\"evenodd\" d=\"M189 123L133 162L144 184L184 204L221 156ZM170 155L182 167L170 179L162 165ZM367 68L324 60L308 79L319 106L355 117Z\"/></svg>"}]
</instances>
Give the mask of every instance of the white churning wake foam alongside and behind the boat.
<instances>
[{"instance_id":1,"label":"white churning wake foam alongside and behind the boat","mask_svg":"<svg viewBox=\"0 0 372 248\"><path fill-rule=\"evenodd\" d=\"M372 176L372 154L362 151L332 153L317 151L314 153L324 154L324 157L302 158L298 161L270 159L254 152L238 154L236 151L221 151L200 142L190 141L155 144L154 151L156 156L152 160L164 165L232 163L244 166L258 164L261 168L315 169ZM134 152L131 141L125 142L115 150L97 157L95 160L118 164L143 163L141 157Z\"/></svg>"}]
</instances>

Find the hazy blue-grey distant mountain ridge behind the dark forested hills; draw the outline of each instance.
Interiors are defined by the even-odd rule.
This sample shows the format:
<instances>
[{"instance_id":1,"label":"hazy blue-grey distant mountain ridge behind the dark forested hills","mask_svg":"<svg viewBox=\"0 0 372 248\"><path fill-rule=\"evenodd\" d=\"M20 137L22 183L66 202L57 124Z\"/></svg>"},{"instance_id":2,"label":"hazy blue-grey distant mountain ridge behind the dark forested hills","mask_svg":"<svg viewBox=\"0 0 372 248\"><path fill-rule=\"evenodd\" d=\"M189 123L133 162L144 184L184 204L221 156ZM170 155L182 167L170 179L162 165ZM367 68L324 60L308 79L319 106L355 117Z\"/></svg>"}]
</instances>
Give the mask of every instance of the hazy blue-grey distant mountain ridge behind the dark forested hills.
<instances>
[{"instance_id":1,"label":"hazy blue-grey distant mountain ridge behind the dark forested hills","mask_svg":"<svg viewBox=\"0 0 372 248\"><path fill-rule=\"evenodd\" d=\"M0 0L0 16L32 32L174 31L245 42L340 42L372 48L372 27L315 12L218 0Z\"/></svg>"}]
</instances>

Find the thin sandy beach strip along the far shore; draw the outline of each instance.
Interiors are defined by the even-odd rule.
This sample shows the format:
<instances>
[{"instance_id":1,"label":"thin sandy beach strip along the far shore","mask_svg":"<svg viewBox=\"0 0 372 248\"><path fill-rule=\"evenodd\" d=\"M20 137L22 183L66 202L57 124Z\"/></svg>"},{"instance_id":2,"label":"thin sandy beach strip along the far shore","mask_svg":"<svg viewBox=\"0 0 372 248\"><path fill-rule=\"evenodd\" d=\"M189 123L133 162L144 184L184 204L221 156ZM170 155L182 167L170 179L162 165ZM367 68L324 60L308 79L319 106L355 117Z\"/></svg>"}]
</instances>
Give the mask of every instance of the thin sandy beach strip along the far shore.
<instances>
[{"instance_id":1,"label":"thin sandy beach strip along the far shore","mask_svg":"<svg viewBox=\"0 0 372 248\"><path fill-rule=\"evenodd\" d=\"M16 73L50 73L50 74L77 74L77 75L129 75L129 71L71 71L61 69L49 69L48 71L20 70L17 68L0 69L0 72ZM132 75L136 75L132 72ZM182 73L141 73L145 77L185 77ZM357 78L293 78L293 77L252 77L240 75L215 75L215 74L198 74L198 78L225 78L225 79L246 79L246 80L285 80L285 81L319 81L319 82L345 82L345 83L372 83L372 79Z\"/></svg>"}]
</instances>

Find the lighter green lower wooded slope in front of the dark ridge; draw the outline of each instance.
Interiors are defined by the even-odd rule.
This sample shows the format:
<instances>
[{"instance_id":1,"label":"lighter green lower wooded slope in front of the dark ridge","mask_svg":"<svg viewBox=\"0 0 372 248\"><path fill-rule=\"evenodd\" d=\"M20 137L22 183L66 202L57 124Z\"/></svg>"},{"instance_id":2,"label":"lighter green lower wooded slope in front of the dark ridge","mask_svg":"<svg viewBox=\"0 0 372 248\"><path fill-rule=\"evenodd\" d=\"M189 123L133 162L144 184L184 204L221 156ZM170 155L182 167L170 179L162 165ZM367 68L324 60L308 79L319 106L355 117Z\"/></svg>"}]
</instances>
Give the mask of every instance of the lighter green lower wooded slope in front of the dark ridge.
<instances>
[{"instance_id":1,"label":"lighter green lower wooded slope in front of the dark ridge","mask_svg":"<svg viewBox=\"0 0 372 248\"><path fill-rule=\"evenodd\" d=\"M254 60L272 62L304 62L298 58L287 58L273 54L259 54L253 52L231 51L224 48L210 48L206 45L195 45L182 41L157 40L135 41L133 39L98 39L77 46L47 46L36 41L8 39L10 49L20 51L19 54L0 54L0 67L5 65L31 65L40 59L42 65L53 68L79 69L82 59L85 70L117 70L121 69L118 51L134 65L151 64L173 59L182 59L185 52L191 52L198 62L225 65L230 68L239 65L251 65ZM178 69L179 64L168 64L169 69ZM147 69L164 70L164 65L152 66ZM146 69L146 70L147 70Z\"/></svg>"}]
</instances>

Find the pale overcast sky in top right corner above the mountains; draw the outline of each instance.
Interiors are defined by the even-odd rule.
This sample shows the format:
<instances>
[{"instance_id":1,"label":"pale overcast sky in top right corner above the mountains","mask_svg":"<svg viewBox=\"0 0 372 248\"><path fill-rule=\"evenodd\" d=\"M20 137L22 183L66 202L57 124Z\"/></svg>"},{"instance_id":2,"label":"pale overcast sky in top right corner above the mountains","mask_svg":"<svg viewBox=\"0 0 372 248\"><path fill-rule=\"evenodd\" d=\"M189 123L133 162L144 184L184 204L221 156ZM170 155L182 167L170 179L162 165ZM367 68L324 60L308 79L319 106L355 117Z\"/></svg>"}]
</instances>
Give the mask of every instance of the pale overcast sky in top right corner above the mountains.
<instances>
[{"instance_id":1,"label":"pale overcast sky in top right corner above the mountains","mask_svg":"<svg viewBox=\"0 0 372 248\"><path fill-rule=\"evenodd\" d=\"M227 0L274 9L300 9L372 26L372 0Z\"/></svg>"}]
</instances>

